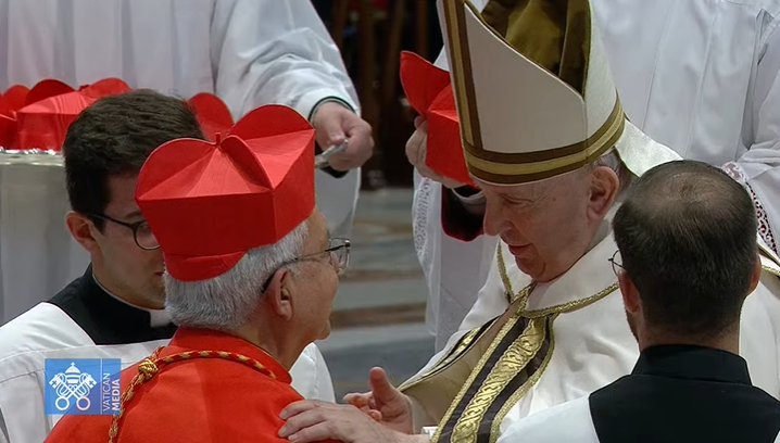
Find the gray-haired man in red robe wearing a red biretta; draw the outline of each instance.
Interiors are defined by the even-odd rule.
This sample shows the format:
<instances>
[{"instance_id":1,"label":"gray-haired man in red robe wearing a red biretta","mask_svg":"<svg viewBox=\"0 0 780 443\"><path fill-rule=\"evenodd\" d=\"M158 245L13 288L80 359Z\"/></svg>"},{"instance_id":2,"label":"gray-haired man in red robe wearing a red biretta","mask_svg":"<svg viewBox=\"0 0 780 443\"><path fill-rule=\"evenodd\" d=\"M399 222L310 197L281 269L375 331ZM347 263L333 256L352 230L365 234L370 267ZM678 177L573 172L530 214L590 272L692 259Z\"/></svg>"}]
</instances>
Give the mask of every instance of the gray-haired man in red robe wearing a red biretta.
<instances>
[{"instance_id":1,"label":"gray-haired man in red robe wearing a red biretta","mask_svg":"<svg viewBox=\"0 0 780 443\"><path fill-rule=\"evenodd\" d=\"M302 396L289 369L330 332L349 240L314 199L314 130L252 111L215 142L177 139L138 176L165 260L167 346L121 374L117 415L66 415L47 442L275 442Z\"/></svg>"}]
</instances>

